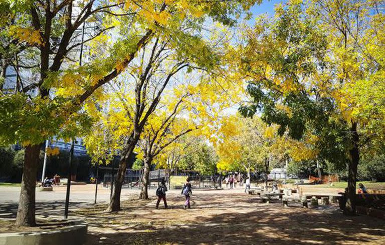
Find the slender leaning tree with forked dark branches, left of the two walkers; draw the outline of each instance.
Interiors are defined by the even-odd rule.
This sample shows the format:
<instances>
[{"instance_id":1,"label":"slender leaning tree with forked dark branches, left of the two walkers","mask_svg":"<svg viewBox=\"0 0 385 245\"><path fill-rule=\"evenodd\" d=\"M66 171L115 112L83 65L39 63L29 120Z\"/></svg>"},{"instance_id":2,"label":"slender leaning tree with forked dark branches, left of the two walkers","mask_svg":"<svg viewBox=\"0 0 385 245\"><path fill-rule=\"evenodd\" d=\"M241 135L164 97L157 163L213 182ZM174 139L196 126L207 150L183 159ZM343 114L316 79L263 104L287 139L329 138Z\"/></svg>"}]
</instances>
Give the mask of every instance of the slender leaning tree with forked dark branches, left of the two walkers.
<instances>
[{"instance_id":1,"label":"slender leaning tree with forked dark branches, left of the two walkers","mask_svg":"<svg viewBox=\"0 0 385 245\"><path fill-rule=\"evenodd\" d=\"M168 32L164 33L164 35L157 36L156 40L154 40L154 44L158 43L158 39L161 43L164 43L164 47L160 52L165 51L166 53L170 53L171 56L160 58L160 60L154 62L151 58L153 56L151 53L149 56L143 56L141 59L145 60L149 57L145 66L143 66L143 62L138 64L142 76L139 76L139 82L136 83L135 87L135 108L132 115L132 131L123 143L123 149L120 152L122 158L119 163L115 189L107 208L108 211L120 209L120 193L124 180L126 161L130 154L132 154L148 117L158 105L162 92L169 81L173 79L176 73L187 70L187 67L189 67L187 71L190 72L191 69L211 71L218 66L218 56L220 54L213 49L213 46L209 42L204 40L202 35L200 25L202 25L204 18L209 16L214 21L232 25L234 20L230 18L230 15L232 13L241 13L245 8L249 8L253 2L199 2L196 5L190 6L190 8L193 9L189 10L193 14L194 18L192 19L185 19L188 15L186 15L184 11L186 11L188 6L181 4L181 6L184 7L179 9L180 6L177 5L177 3L173 4L176 4L176 9L174 9L175 12L172 12L172 17L176 18L178 22L174 24L172 28L168 29ZM197 9L199 11L197 11ZM162 45L160 45L160 47L162 47ZM154 55L156 57L157 53L155 52ZM151 82L151 84L158 85L159 87L157 87L153 93L148 93L147 85L150 81L154 80L152 72L159 69L159 64L164 60L173 61L171 63L172 65L164 66L168 69L163 74L156 76L159 81ZM150 97L151 95L152 97ZM147 97L150 102L148 103L143 97ZM130 117L131 112L129 110L126 111L129 113L128 117Z\"/></svg>"}]
</instances>

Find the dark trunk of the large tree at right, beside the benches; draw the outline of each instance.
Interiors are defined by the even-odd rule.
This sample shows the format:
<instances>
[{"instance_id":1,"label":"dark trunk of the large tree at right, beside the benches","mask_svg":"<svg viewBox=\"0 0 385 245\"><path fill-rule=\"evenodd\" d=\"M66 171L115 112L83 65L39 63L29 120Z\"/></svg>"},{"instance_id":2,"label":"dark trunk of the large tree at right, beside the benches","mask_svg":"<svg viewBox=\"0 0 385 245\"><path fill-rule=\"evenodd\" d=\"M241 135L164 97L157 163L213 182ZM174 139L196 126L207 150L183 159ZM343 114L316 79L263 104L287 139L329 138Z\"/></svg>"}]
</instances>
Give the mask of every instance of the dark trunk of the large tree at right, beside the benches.
<instances>
[{"instance_id":1,"label":"dark trunk of the large tree at right, beside the benches","mask_svg":"<svg viewBox=\"0 0 385 245\"><path fill-rule=\"evenodd\" d=\"M352 147L349 150L350 153L350 161L349 161L349 170L348 170L348 178L347 178L347 191L346 191L346 204L344 213L348 215L355 214L355 184L357 180L357 166L359 163L359 136L357 133L357 123L352 123L350 132L352 134Z\"/></svg>"}]
</instances>

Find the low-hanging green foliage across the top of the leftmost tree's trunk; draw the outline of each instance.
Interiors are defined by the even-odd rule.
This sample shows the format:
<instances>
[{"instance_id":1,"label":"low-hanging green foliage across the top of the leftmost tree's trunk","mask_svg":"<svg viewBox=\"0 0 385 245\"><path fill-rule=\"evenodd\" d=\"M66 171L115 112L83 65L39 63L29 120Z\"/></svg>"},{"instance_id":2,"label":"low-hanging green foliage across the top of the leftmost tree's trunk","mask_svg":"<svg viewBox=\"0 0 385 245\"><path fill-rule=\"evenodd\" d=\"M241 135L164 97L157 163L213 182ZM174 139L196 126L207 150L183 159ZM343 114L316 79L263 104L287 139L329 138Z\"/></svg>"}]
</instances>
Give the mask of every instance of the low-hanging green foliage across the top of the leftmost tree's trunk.
<instances>
[{"instance_id":1,"label":"low-hanging green foliage across the top of the leftmost tree's trunk","mask_svg":"<svg viewBox=\"0 0 385 245\"><path fill-rule=\"evenodd\" d=\"M80 135L90 128L92 120L86 113L69 115L70 109L71 101L2 95L0 144L40 144L54 136L69 139Z\"/></svg>"}]
</instances>

